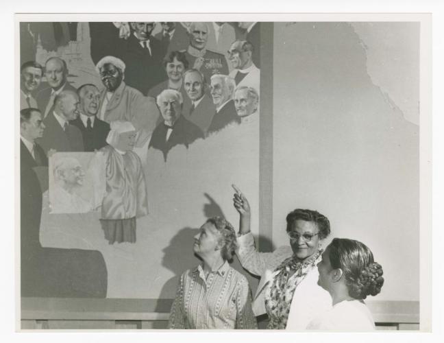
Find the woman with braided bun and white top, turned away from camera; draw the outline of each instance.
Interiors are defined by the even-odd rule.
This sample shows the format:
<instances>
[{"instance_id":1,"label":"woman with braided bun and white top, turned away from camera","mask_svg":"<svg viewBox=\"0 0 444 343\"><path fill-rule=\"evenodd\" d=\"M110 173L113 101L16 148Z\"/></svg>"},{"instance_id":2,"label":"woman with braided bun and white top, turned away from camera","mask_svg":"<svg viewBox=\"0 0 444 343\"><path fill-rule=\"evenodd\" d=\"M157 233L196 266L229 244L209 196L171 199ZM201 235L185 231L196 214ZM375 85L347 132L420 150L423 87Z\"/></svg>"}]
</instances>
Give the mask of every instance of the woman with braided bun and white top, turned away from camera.
<instances>
[{"instance_id":1,"label":"woman with braided bun and white top, turned away from camera","mask_svg":"<svg viewBox=\"0 0 444 343\"><path fill-rule=\"evenodd\" d=\"M318 263L318 285L332 296L333 307L312 320L308 329L333 331L371 331L373 316L364 303L384 285L382 267L371 250L360 241L335 238Z\"/></svg>"}]
</instances>

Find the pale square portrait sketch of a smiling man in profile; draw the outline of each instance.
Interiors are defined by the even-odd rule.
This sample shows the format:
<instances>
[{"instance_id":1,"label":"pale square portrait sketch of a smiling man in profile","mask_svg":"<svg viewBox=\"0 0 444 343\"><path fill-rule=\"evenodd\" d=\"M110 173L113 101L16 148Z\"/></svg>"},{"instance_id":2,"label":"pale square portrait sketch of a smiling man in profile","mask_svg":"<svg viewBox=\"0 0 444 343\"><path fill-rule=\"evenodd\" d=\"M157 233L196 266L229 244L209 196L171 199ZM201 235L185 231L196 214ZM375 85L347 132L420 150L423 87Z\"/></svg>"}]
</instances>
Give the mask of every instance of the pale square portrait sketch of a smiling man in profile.
<instances>
[{"instance_id":1,"label":"pale square portrait sketch of a smiling man in profile","mask_svg":"<svg viewBox=\"0 0 444 343\"><path fill-rule=\"evenodd\" d=\"M93 152L56 153L49 158L51 213L97 211L105 193L103 155Z\"/></svg>"}]
</instances>

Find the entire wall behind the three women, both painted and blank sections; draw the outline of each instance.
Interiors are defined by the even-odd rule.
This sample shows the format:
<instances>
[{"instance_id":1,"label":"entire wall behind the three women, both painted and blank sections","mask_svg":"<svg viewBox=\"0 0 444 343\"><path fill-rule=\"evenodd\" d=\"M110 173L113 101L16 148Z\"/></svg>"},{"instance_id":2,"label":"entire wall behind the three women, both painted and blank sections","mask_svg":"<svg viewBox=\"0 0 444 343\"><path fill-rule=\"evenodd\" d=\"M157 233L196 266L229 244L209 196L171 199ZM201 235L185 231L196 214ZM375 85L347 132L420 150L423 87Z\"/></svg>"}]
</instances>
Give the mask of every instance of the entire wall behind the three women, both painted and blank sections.
<instances>
[{"instance_id":1,"label":"entire wall behind the three women, both painted and blank sections","mask_svg":"<svg viewBox=\"0 0 444 343\"><path fill-rule=\"evenodd\" d=\"M332 237L382 256L380 298L417 299L418 23L62 23L77 31L51 45L59 25L46 24L21 23L23 296L173 298L199 263L197 229L214 215L236 228L235 184L270 246L288 245L289 211L319 209ZM262 25L274 40L260 40ZM53 213L45 158L74 154L85 183L86 152L105 158L97 211ZM94 187L83 187L88 201Z\"/></svg>"}]
</instances>

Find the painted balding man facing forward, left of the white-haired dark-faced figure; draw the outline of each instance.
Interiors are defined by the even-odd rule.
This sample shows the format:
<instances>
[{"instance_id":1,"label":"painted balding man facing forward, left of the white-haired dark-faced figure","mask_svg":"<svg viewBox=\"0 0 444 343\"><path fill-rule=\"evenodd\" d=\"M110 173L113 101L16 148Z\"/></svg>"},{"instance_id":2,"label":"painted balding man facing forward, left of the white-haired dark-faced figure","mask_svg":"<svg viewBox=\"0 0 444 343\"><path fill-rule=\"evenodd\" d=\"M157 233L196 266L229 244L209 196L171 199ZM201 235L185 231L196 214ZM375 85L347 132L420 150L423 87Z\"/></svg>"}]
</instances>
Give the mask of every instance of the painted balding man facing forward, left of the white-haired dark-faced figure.
<instances>
[{"instance_id":1,"label":"painted balding man facing forward, left of the white-haired dark-faced figure","mask_svg":"<svg viewBox=\"0 0 444 343\"><path fill-rule=\"evenodd\" d=\"M38 108L42 112L43 118L54 110L54 99L62 91L73 91L75 87L71 86L67 81L68 67L62 58L51 57L45 63L45 76L49 87L42 89L37 94Z\"/></svg>"}]
</instances>

